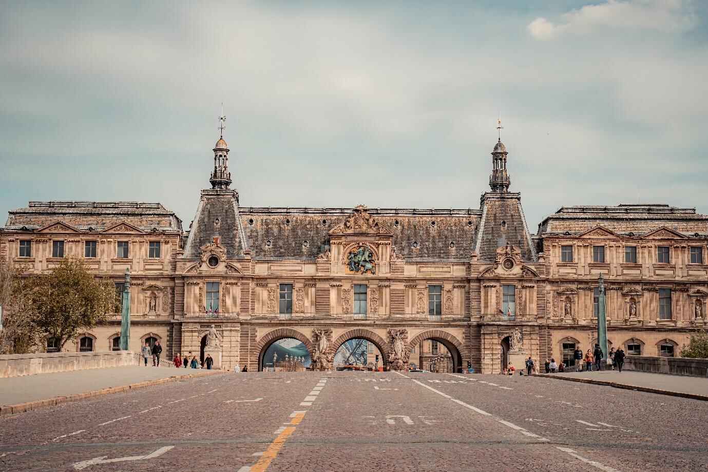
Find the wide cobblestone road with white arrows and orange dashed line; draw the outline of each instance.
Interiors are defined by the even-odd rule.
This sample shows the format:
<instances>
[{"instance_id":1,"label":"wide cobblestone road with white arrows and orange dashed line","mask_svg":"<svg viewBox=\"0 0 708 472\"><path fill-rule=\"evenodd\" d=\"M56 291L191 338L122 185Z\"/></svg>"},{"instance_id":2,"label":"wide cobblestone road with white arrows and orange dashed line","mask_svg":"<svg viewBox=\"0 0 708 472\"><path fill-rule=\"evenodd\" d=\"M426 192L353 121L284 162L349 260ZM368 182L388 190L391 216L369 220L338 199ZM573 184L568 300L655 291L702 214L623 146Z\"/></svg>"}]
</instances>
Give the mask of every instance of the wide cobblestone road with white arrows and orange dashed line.
<instances>
[{"instance_id":1,"label":"wide cobblestone road with white arrows and orange dashed line","mask_svg":"<svg viewBox=\"0 0 708 472\"><path fill-rule=\"evenodd\" d=\"M706 471L708 402L540 377L209 376L0 419L2 471Z\"/></svg>"}]
</instances>

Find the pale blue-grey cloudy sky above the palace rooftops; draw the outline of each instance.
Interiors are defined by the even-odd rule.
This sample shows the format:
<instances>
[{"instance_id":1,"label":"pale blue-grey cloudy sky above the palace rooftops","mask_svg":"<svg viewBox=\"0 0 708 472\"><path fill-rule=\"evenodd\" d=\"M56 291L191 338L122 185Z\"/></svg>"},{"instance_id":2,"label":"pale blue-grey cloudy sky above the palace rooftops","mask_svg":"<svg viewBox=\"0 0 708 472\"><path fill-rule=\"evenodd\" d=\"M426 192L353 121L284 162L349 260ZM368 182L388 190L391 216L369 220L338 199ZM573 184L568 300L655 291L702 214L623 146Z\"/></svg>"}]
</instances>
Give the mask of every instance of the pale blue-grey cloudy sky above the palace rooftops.
<instances>
[{"instance_id":1,"label":"pale blue-grey cloudy sky above the palace rooftops","mask_svg":"<svg viewBox=\"0 0 708 472\"><path fill-rule=\"evenodd\" d=\"M708 213L708 2L0 1L0 214L209 188L245 207L479 208L501 117L530 231Z\"/></svg>"}]
</instances>

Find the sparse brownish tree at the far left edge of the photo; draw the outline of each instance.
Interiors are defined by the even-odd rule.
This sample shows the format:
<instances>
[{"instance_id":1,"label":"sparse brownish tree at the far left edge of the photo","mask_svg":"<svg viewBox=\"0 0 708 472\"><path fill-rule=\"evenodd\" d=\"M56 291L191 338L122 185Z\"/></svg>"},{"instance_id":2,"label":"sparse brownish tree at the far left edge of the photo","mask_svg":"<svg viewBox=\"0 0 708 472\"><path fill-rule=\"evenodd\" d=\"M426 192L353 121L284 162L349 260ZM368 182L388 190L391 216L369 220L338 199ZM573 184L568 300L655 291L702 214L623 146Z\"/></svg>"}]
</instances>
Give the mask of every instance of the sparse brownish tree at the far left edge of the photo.
<instances>
[{"instance_id":1,"label":"sparse brownish tree at the far left edge of the photo","mask_svg":"<svg viewBox=\"0 0 708 472\"><path fill-rule=\"evenodd\" d=\"M22 267L0 260L0 354L26 354L39 346L41 332L33 323L34 313L22 274Z\"/></svg>"}]
</instances>

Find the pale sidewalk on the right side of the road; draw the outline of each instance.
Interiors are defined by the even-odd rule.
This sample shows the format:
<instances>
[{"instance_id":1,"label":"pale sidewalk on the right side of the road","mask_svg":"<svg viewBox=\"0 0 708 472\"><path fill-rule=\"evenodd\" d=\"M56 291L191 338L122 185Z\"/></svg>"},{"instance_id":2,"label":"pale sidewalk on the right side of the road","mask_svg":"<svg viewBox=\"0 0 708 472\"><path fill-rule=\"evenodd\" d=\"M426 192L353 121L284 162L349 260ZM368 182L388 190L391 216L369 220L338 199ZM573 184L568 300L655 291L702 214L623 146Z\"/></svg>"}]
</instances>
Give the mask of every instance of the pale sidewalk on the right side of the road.
<instances>
[{"instance_id":1,"label":"pale sidewalk on the right side of the road","mask_svg":"<svg viewBox=\"0 0 708 472\"><path fill-rule=\"evenodd\" d=\"M625 370L601 372L564 372L562 374L539 374L552 379L563 379L588 384L613 386L628 390L659 393L708 401L708 378L683 375L654 374Z\"/></svg>"}]
</instances>

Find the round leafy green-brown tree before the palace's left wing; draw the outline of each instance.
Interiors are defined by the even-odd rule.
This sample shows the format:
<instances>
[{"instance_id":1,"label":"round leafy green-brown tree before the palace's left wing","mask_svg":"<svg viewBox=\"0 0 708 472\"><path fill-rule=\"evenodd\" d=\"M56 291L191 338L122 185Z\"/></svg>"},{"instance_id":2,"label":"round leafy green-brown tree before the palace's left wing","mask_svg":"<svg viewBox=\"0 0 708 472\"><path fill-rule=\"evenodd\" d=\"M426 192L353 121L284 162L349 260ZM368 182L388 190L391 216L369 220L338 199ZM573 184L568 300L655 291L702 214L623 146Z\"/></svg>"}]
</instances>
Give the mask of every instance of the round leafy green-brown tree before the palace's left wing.
<instances>
[{"instance_id":1,"label":"round leafy green-brown tree before the palace's left wing","mask_svg":"<svg viewBox=\"0 0 708 472\"><path fill-rule=\"evenodd\" d=\"M50 274L30 277L28 288L35 325L58 338L59 350L115 312L115 284L93 277L81 260L62 260Z\"/></svg>"}]
</instances>

